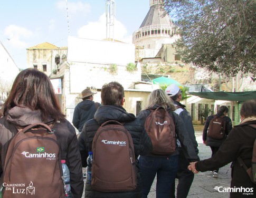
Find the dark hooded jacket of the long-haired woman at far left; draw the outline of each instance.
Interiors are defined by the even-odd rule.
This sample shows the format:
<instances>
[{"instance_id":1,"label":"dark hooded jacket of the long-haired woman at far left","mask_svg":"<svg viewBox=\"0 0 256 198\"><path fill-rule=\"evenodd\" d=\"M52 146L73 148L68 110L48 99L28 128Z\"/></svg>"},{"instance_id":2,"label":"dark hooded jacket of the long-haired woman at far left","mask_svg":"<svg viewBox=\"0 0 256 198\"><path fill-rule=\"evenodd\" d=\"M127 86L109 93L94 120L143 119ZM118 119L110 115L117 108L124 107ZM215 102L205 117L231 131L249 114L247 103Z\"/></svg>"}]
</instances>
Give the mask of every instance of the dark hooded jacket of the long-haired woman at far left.
<instances>
[{"instance_id":1,"label":"dark hooded jacket of the long-haired woman at far left","mask_svg":"<svg viewBox=\"0 0 256 198\"><path fill-rule=\"evenodd\" d=\"M44 123L50 123L53 120L49 118ZM39 110L32 111L29 108L14 107L8 111L7 115L0 119L0 175L3 177L3 163L7 142L16 133L15 126L25 127L29 124L42 122L41 112ZM65 158L70 171L71 191L74 198L80 198L83 193L83 178L81 157L79 154L78 140L74 127L69 121L56 122L52 129L55 130L57 141L60 145L61 156Z\"/></svg>"}]
</instances>

